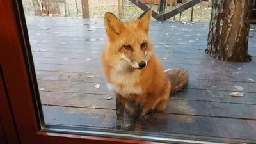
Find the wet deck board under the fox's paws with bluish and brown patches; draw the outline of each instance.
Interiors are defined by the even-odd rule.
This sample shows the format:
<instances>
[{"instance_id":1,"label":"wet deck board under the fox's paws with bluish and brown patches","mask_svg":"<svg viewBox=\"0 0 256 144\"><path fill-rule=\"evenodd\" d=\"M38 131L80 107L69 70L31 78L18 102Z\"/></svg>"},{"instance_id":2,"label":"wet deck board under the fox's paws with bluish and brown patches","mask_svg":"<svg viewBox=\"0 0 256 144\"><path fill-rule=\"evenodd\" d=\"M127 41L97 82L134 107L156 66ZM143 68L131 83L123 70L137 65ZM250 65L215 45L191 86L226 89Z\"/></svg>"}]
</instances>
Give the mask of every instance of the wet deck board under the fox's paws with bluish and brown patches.
<instances>
[{"instance_id":1,"label":"wet deck board under the fox's paws with bluish and brown patches","mask_svg":"<svg viewBox=\"0 0 256 144\"><path fill-rule=\"evenodd\" d=\"M43 106L43 110L47 124L111 129L116 122L115 111L107 109ZM246 123L252 125L252 127L244 127ZM151 127L148 127L147 124ZM142 125L145 133L161 132L162 134L167 133L169 136L172 136L172 134L189 134L191 136L202 136L203 138L204 136L212 136L244 140L254 140L255 135L246 135L246 133L254 132L253 129L256 128L256 123L253 120L163 113L155 114L152 119L142 122Z\"/></svg>"}]
</instances>

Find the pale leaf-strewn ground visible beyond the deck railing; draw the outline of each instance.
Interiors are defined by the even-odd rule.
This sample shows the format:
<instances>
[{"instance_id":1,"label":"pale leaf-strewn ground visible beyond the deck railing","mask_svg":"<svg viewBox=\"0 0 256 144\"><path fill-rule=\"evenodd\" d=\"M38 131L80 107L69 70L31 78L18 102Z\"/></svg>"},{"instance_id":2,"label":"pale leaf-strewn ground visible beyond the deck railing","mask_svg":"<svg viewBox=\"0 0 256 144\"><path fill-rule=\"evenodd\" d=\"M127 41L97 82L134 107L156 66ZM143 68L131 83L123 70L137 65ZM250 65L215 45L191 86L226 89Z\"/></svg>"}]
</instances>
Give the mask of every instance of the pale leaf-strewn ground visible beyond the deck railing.
<instances>
[{"instance_id":1,"label":"pale leaf-strewn ground visible beyond the deck railing","mask_svg":"<svg viewBox=\"0 0 256 144\"><path fill-rule=\"evenodd\" d=\"M34 15L33 12L33 4L31 0L22 0L24 11L26 15ZM77 6L78 6L78 12L76 9L76 2L75 0L68 0L67 1L69 6L69 14L67 10L67 16L68 17L82 17L81 13L81 0L77 0ZM176 6L173 6L173 8L176 8L180 4L177 4ZM60 11L61 11L61 17L64 17L64 4L59 3ZM157 12L157 5L152 5L152 9ZM166 12L170 10L170 7L168 6L166 8ZM90 18L104 18L104 14L106 12L112 12L115 13L116 16L118 16L118 0L89 0L89 12L90 12ZM125 0L125 8L124 8L124 19L134 19L138 17L143 11L135 6L134 4L129 3L128 0ZM179 21L180 15L175 16L175 21ZM193 21L194 22L209 22L211 17L211 8L208 8L208 2L202 2L200 4L197 4L194 7L193 12ZM190 21L191 19L191 8L186 10L185 12L182 12L181 15L181 21ZM155 20L155 19L152 19ZM173 18L169 20L174 20Z\"/></svg>"}]
</instances>

